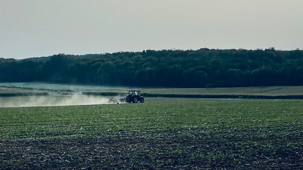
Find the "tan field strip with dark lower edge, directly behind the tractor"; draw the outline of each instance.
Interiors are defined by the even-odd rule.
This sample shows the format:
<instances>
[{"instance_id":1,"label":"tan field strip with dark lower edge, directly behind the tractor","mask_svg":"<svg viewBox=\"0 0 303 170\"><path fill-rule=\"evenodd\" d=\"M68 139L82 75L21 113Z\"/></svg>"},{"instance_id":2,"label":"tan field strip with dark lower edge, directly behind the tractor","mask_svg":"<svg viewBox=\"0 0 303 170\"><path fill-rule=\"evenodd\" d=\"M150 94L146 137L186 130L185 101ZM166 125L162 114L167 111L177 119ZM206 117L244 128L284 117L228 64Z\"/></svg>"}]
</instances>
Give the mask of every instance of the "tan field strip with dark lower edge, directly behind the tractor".
<instances>
[{"instance_id":1,"label":"tan field strip with dark lower edge, directly behind the tractor","mask_svg":"<svg viewBox=\"0 0 303 170\"><path fill-rule=\"evenodd\" d=\"M229 88L140 88L149 97L303 99L303 86ZM121 95L125 89L84 91L87 95Z\"/></svg>"}]
</instances>

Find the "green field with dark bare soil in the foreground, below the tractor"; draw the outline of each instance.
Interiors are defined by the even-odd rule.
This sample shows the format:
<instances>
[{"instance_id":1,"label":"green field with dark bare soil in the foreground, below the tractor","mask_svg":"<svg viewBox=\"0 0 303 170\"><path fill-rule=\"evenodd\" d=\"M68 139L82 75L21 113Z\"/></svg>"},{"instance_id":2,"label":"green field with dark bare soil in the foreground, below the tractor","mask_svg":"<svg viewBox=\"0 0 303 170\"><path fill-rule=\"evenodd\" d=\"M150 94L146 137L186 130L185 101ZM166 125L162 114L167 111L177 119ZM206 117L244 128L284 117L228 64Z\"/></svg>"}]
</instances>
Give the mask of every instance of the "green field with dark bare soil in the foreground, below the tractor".
<instances>
[{"instance_id":1,"label":"green field with dark bare soil in the foreground, below the tractor","mask_svg":"<svg viewBox=\"0 0 303 170\"><path fill-rule=\"evenodd\" d=\"M0 169L303 169L303 100L0 108Z\"/></svg>"}]
</instances>

